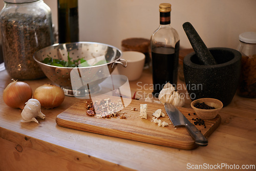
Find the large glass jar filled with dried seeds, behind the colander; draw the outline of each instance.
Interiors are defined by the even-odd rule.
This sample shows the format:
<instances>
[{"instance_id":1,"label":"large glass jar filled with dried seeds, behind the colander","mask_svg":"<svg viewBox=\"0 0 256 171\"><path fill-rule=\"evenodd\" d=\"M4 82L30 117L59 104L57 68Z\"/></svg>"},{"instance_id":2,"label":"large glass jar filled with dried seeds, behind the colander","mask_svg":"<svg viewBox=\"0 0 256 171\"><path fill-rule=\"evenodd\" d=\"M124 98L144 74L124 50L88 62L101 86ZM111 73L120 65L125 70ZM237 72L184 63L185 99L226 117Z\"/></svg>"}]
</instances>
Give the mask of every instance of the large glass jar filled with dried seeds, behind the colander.
<instances>
[{"instance_id":1,"label":"large glass jar filled with dried seeds, behind the colander","mask_svg":"<svg viewBox=\"0 0 256 171\"><path fill-rule=\"evenodd\" d=\"M5 0L0 12L5 68L15 79L37 79L44 73L34 52L53 44L51 9L42 0Z\"/></svg>"}]
</instances>

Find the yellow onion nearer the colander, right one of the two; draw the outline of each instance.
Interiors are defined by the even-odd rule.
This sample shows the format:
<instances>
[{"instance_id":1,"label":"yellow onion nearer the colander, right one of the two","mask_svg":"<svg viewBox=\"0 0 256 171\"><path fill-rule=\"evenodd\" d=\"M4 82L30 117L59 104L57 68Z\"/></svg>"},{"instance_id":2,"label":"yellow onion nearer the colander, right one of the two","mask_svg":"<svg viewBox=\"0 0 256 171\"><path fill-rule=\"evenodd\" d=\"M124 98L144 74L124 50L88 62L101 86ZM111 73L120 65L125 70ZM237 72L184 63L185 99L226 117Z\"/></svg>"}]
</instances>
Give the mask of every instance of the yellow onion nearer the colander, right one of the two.
<instances>
[{"instance_id":1,"label":"yellow onion nearer the colander, right one of the two","mask_svg":"<svg viewBox=\"0 0 256 171\"><path fill-rule=\"evenodd\" d=\"M46 83L34 91L33 98L37 99L42 107L52 109L64 101L65 94L60 87Z\"/></svg>"}]
</instances>

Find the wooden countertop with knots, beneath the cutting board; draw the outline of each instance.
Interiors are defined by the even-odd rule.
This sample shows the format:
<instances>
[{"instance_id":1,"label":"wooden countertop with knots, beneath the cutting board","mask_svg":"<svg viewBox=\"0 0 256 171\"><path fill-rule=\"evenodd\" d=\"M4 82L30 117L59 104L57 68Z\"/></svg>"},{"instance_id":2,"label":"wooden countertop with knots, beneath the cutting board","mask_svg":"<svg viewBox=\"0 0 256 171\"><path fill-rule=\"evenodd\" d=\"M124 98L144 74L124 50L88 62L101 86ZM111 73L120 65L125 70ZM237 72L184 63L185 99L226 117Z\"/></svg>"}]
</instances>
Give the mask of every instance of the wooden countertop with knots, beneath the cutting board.
<instances>
[{"instance_id":1,"label":"wooden countertop with knots, beneath the cutting board","mask_svg":"<svg viewBox=\"0 0 256 171\"><path fill-rule=\"evenodd\" d=\"M39 124L21 123L21 110L3 101L10 82L7 72L0 72L0 170L192 170L200 165L206 170L220 170L222 165L223 170L230 165L254 165L255 169L256 99L234 96L222 109L222 123L208 138L209 144L185 151L58 126L56 116L80 100L74 97L66 96L56 109L42 109L46 119L38 119ZM50 81L25 82L34 91ZM151 72L143 71L139 80L130 81L132 95L135 91L137 97L151 93L151 84ZM186 99L184 107L190 108L190 102Z\"/></svg>"}]
</instances>

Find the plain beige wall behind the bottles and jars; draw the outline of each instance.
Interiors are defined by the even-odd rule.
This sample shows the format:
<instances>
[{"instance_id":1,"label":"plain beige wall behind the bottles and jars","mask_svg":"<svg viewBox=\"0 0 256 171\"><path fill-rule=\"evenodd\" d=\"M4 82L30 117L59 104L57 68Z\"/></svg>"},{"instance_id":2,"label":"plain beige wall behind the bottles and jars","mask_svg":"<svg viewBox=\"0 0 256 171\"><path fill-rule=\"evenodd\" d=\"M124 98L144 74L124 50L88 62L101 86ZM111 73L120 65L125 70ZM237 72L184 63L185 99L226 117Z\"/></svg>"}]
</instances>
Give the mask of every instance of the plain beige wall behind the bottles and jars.
<instances>
[{"instance_id":1,"label":"plain beige wall behind the bottles and jars","mask_svg":"<svg viewBox=\"0 0 256 171\"><path fill-rule=\"evenodd\" d=\"M57 0L44 2L57 26ZM172 4L172 26L184 48L191 48L182 28L185 22L195 27L207 47L236 49L240 33L256 31L256 0L79 0L80 41L121 48L122 39L150 38L159 26L158 5L163 2Z\"/></svg>"}]
</instances>

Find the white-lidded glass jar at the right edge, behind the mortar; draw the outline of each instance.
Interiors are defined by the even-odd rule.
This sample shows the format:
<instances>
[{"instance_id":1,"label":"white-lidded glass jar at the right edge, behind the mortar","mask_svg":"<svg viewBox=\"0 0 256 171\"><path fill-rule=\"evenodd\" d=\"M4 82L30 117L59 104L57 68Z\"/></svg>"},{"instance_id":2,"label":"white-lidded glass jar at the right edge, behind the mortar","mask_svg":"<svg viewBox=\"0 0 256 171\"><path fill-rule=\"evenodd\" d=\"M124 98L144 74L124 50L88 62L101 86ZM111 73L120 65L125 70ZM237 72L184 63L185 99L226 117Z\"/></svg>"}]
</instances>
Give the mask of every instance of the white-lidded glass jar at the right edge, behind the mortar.
<instances>
[{"instance_id":1,"label":"white-lidded glass jar at the right edge, behind the mortar","mask_svg":"<svg viewBox=\"0 0 256 171\"><path fill-rule=\"evenodd\" d=\"M238 95L256 98L256 32L244 32L239 35L239 40L242 70Z\"/></svg>"}]
</instances>

